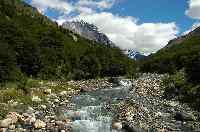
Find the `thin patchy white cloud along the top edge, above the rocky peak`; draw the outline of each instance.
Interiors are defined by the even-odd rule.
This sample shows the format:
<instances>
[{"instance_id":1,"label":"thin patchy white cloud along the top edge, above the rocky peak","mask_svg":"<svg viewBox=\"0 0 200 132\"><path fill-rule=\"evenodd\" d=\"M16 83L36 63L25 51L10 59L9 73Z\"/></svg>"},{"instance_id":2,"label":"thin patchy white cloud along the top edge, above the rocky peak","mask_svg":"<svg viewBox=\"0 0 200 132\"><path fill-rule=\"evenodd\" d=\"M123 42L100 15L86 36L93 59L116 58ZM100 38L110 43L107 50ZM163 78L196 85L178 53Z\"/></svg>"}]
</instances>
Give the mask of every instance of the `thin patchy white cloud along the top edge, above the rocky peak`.
<instances>
[{"instance_id":1,"label":"thin patchy white cloud along the top edge, above the rocky peak","mask_svg":"<svg viewBox=\"0 0 200 132\"><path fill-rule=\"evenodd\" d=\"M92 13L96 9L104 10L111 8L116 0L79 0L69 2L68 0L32 0L31 4L44 13L47 9L56 9L60 13L70 14L71 12Z\"/></svg>"}]
</instances>

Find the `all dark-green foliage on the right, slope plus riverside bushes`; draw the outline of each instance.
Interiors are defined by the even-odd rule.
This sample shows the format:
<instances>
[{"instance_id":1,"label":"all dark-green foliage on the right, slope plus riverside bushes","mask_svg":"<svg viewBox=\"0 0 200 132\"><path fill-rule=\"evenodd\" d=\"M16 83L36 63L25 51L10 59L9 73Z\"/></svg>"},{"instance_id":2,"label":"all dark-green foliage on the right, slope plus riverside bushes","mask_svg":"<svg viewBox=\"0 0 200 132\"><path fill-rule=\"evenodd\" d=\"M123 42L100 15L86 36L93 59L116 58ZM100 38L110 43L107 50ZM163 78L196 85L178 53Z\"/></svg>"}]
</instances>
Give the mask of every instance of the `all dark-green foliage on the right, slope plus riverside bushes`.
<instances>
[{"instance_id":1,"label":"all dark-green foliage on the right, slope plus riverside bushes","mask_svg":"<svg viewBox=\"0 0 200 132\"><path fill-rule=\"evenodd\" d=\"M142 61L140 68L170 73L164 80L165 96L178 98L200 111L200 34L190 34L181 43L161 49Z\"/></svg>"}]
</instances>

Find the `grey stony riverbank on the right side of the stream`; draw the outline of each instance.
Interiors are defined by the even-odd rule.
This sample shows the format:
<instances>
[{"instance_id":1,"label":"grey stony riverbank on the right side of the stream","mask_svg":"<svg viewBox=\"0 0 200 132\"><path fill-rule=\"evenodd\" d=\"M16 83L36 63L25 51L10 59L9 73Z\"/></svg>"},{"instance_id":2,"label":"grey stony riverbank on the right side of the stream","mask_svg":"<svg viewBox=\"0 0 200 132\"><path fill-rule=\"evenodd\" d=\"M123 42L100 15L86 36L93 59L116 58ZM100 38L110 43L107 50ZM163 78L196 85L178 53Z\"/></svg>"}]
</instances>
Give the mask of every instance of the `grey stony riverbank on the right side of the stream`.
<instances>
[{"instance_id":1,"label":"grey stony riverbank on the right side of the stream","mask_svg":"<svg viewBox=\"0 0 200 132\"><path fill-rule=\"evenodd\" d=\"M129 131L200 131L200 113L187 104L163 98L164 75L143 74L134 81L129 99L118 106L118 120Z\"/></svg>"}]
</instances>

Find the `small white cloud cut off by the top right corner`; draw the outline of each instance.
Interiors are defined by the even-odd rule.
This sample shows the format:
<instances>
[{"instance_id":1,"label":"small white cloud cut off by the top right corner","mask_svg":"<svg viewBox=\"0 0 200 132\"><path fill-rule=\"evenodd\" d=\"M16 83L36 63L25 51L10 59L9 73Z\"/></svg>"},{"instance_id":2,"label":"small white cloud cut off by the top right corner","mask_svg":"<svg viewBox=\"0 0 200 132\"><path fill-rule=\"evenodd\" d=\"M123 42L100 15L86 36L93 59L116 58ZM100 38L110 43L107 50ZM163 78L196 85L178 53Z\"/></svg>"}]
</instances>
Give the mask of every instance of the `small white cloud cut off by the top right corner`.
<instances>
[{"instance_id":1,"label":"small white cloud cut off by the top right corner","mask_svg":"<svg viewBox=\"0 0 200 132\"><path fill-rule=\"evenodd\" d=\"M185 13L191 18L200 19L200 0L190 0L189 9Z\"/></svg>"}]
</instances>

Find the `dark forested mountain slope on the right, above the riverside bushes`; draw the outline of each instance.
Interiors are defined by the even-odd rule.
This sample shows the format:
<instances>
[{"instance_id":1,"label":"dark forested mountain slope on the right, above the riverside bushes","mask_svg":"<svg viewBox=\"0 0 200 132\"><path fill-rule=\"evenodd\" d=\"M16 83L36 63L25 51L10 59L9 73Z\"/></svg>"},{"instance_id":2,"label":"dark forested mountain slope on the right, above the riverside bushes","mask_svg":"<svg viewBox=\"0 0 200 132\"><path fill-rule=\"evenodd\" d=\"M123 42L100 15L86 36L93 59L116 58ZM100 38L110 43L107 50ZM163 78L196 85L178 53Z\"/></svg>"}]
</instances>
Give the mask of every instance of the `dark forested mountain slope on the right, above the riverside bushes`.
<instances>
[{"instance_id":1,"label":"dark forested mountain slope on the right, above the riverside bushes","mask_svg":"<svg viewBox=\"0 0 200 132\"><path fill-rule=\"evenodd\" d=\"M141 63L141 70L145 72L174 73L185 69L186 71L195 72L193 75L197 77L200 74L198 70L200 61L198 58L200 58L200 27L184 36L171 40L166 47L148 56ZM192 68L194 69L191 70Z\"/></svg>"}]
</instances>

